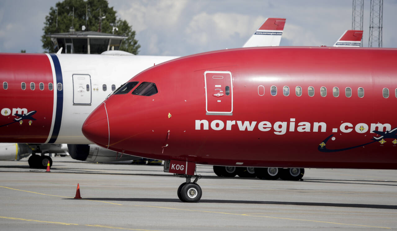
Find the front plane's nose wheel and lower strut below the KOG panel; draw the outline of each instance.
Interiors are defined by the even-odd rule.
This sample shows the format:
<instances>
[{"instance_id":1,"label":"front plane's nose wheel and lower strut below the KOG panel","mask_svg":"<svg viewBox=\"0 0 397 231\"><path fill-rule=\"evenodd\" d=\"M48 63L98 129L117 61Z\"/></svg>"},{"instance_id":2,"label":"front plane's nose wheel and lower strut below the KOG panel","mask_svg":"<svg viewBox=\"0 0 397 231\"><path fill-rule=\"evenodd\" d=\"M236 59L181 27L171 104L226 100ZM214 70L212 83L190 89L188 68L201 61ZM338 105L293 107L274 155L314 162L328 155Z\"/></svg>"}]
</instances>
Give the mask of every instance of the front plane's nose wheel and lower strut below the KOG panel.
<instances>
[{"instance_id":1,"label":"front plane's nose wheel and lower strut below the KOG panel","mask_svg":"<svg viewBox=\"0 0 397 231\"><path fill-rule=\"evenodd\" d=\"M183 202L198 202L202 195L202 190L200 185L197 184L198 179L201 178L200 175L196 176L196 179L191 183L191 175L185 175L186 182L179 185L177 195L179 200Z\"/></svg>"}]
</instances>

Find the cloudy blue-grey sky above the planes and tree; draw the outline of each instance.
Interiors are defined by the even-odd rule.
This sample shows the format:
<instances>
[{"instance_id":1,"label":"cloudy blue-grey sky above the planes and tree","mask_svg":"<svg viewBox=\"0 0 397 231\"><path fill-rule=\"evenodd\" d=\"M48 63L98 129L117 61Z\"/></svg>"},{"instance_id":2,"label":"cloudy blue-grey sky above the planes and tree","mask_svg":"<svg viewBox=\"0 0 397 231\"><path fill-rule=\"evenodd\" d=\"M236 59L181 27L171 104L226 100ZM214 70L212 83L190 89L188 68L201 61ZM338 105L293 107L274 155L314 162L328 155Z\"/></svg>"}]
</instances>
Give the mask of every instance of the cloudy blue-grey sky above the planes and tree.
<instances>
[{"instance_id":1,"label":"cloudy blue-grey sky above the planes and tree","mask_svg":"<svg viewBox=\"0 0 397 231\"><path fill-rule=\"evenodd\" d=\"M0 52L43 52L54 0L1 0ZM243 46L267 17L285 17L282 46L332 46L351 29L352 0L108 0L137 32L141 55L185 56ZM370 0L364 0L368 46ZM397 47L397 0L384 1L383 47Z\"/></svg>"}]
</instances>

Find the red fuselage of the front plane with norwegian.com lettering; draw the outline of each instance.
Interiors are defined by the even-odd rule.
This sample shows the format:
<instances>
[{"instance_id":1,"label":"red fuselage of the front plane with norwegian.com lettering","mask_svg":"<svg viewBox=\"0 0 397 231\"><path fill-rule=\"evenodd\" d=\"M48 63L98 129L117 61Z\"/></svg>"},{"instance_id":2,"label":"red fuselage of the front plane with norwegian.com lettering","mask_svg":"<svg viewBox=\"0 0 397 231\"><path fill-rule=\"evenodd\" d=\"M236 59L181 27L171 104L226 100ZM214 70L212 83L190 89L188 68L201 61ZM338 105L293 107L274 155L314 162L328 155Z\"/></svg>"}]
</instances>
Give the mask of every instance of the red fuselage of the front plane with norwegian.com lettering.
<instances>
[{"instance_id":1,"label":"red fuselage of the front plane with norwegian.com lettering","mask_svg":"<svg viewBox=\"0 0 397 231\"><path fill-rule=\"evenodd\" d=\"M386 48L187 56L133 77L135 87L98 106L83 134L111 150L160 160L397 169L396 60L397 49ZM157 93L132 94L143 82Z\"/></svg>"}]
</instances>

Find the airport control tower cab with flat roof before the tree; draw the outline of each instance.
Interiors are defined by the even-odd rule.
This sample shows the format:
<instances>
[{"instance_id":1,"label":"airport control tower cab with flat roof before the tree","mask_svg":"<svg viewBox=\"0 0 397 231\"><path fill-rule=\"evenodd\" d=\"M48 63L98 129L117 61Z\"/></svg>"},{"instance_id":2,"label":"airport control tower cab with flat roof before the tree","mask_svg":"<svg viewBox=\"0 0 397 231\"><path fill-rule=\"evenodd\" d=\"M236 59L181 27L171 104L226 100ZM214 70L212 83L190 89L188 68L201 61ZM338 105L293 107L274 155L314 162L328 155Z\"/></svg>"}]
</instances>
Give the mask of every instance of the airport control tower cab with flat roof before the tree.
<instances>
[{"instance_id":1,"label":"airport control tower cab with flat roof before the tree","mask_svg":"<svg viewBox=\"0 0 397 231\"><path fill-rule=\"evenodd\" d=\"M122 35L96 31L71 31L46 35L50 37L55 50L62 48L62 54L101 54L107 50L119 50Z\"/></svg>"}]
</instances>

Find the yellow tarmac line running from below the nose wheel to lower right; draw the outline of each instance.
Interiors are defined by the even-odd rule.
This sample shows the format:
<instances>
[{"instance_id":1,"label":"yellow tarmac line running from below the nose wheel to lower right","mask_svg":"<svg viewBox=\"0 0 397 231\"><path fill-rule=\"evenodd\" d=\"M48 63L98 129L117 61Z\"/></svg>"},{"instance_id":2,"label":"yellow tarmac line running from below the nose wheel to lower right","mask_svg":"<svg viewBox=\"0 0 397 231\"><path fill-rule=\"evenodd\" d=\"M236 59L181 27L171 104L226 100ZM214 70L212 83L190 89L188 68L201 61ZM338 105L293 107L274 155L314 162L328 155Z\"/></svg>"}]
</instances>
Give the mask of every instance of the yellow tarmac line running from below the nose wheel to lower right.
<instances>
[{"instance_id":1,"label":"yellow tarmac line running from below the nose wheel to lower right","mask_svg":"<svg viewBox=\"0 0 397 231\"><path fill-rule=\"evenodd\" d=\"M292 221L310 221L310 222L316 222L316 223L327 223L327 224L336 224L336 225L349 225L349 226L360 226L360 227L371 227L371 228L391 229L391 228L389 228L389 227L382 227L382 226L346 224L346 223L337 223L337 222L330 222L330 221L308 220L308 219L279 218L279 217L271 217L271 216L256 216L256 215L249 215L249 214L233 214L233 213L216 212L216 211L192 210L192 209L181 209L181 208L169 208L169 207L148 206L148 205L135 205L135 206L152 207L152 208L166 208L166 209L172 209L172 210L183 210L183 211L194 211L194 212L207 212L207 213L216 213L216 214L229 214L229 215L237 215L237 216L249 216L249 217L260 217L260 218L283 219L283 220L292 220Z\"/></svg>"}]
</instances>

